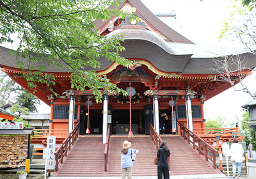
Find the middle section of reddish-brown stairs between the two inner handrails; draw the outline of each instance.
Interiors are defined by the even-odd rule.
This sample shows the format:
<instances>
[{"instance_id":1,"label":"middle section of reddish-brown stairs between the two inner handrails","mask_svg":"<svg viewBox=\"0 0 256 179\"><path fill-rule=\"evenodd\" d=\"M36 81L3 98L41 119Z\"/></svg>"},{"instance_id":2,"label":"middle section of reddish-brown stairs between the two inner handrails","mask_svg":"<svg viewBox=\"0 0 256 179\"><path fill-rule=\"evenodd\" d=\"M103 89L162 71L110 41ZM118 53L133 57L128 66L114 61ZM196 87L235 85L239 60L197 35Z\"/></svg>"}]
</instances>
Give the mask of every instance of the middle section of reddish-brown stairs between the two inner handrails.
<instances>
[{"instance_id":1,"label":"middle section of reddish-brown stairs between the two inner handrails","mask_svg":"<svg viewBox=\"0 0 256 179\"><path fill-rule=\"evenodd\" d=\"M134 136L129 139L124 136L111 136L109 146L108 176L121 176L121 150L124 141L132 143L131 148L136 148L140 153L132 166L132 176L156 176L157 166L153 164L156 157L156 146L149 136Z\"/></svg>"}]
</instances>

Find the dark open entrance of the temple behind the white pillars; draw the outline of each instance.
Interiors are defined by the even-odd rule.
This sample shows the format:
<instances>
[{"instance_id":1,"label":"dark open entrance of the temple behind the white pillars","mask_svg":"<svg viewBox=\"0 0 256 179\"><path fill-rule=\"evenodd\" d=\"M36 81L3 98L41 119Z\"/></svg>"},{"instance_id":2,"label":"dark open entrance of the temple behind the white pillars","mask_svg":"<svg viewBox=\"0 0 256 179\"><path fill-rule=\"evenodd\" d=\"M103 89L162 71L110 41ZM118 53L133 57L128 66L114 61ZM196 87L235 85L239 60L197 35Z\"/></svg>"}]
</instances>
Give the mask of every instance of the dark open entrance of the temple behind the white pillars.
<instances>
[{"instance_id":1,"label":"dark open entrance of the temple behind the white pillars","mask_svg":"<svg viewBox=\"0 0 256 179\"><path fill-rule=\"evenodd\" d=\"M152 105L145 105L144 109L132 109L132 134L149 134L148 123L152 123L152 125L154 125L152 109ZM167 120L164 120L164 134L173 134L172 109L160 109L159 117L162 113L165 113L168 117ZM128 134L130 130L129 109L112 109L112 106L109 105L109 114L111 115L112 134ZM91 109L89 113L89 118L90 134L102 134L102 109ZM84 106L82 105L79 118L79 123L81 124L81 127L79 129L80 135L86 134L87 120L87 110L84 109ZM176 125L177 120L174 120L174 123ZM163 130L160 131L160 134L163 134Z\"/></svg>"}]
</instances>

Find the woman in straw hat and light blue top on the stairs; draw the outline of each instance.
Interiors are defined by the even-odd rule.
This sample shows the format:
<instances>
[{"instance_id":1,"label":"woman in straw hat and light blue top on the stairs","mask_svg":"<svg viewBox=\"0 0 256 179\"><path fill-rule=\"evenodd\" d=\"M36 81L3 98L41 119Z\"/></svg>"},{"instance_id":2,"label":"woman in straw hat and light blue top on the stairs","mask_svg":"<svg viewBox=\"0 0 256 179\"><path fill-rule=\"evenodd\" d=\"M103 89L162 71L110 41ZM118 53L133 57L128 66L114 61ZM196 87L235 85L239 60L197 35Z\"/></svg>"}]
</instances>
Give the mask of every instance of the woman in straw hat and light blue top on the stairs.
<instances>
[{"instance_id":1,"label":"woman in straw hat and light blue top on the stairs","mask_svg":"<svg viewBox=\"0 0 256 179\"><path fill-rule=\"evenodd\" d=\"M128 179L132 179L132 153L139 153L138 150L134 150L131 147L129 141L124 141L123 149L121 150L121 168L122 168L122 179L125 179L126 173Z\"/></svg>"}]
</instances>

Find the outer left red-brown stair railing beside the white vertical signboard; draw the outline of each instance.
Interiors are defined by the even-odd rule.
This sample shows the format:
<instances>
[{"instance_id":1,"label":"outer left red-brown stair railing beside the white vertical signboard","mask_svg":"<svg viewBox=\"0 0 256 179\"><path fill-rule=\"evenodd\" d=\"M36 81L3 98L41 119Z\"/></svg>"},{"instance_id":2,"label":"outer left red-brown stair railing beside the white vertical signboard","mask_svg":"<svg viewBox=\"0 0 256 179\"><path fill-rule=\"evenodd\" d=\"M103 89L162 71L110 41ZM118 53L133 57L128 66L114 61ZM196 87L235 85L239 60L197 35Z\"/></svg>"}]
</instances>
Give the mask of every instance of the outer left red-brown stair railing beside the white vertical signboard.
<instances>
[{"instance_id":1,"label":"outer left red-brown stair railing beside the white vertical signboard","mask_svg":"<svg viewBox=\"0 0 256 179\"><path fill-rule=\"evenodd\" d=\"M76 127L73 128L73 130L70 132L70 134L68 134L66 139L61 143L61 145L58 147L58 149L54 153L55 160L56 160L55 171L58 171L58 167L60 166L60 164L63 163L64 157L68 156L68 151L70 151L71 146L74 145L74 141L76 141L76 139L78 137L79 126L80 126L80 124L76 125Z\"/></svg>"}]
</instances>

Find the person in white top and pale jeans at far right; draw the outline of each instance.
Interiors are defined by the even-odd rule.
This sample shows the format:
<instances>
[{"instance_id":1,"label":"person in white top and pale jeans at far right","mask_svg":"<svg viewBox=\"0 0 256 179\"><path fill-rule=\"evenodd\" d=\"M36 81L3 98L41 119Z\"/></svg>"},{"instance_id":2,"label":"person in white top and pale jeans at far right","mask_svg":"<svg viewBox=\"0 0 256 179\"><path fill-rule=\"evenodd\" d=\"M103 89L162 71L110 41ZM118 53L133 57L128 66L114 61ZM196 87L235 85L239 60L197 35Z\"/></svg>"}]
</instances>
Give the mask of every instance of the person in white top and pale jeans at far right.
<instances>
[{"instance_id":1,"label":"person in white top and pale jeans at far right","mask_svg":"<svg viewBox=\"0 0 256 179\"><path fill-rule=\"evenodd\" d=\"M231 152L232 152L232 157L231 159L234 159L232 162L233 166L233 178L236 177L236 167L237 167L237 176L240 177L241 175L241 162L243 162L244 157L244 150L243 146L238 143L238 139L234 138L233 139L233 144L231 145Z\"/></svg>"}]
</instances>

